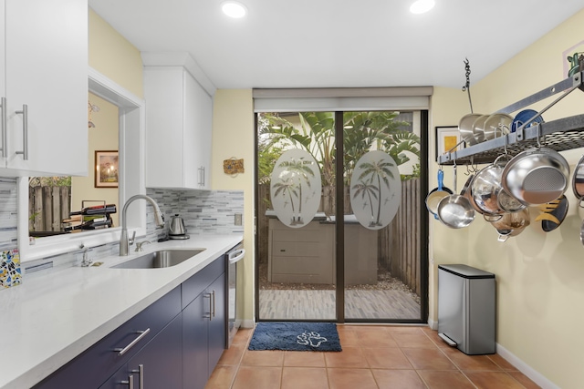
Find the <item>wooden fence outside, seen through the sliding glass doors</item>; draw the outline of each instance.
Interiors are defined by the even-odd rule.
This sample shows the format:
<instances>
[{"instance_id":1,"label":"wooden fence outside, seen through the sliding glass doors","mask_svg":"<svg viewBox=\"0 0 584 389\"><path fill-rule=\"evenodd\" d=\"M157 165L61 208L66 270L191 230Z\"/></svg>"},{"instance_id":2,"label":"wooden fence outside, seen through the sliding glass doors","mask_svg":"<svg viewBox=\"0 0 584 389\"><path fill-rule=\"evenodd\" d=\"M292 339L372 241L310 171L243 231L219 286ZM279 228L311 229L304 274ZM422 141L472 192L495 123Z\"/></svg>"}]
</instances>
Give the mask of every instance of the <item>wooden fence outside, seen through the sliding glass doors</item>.
<instances>
[{"instance_id":1,"label":"wooden fence outside, seen through the sliding glass doors","mask_svg":"<svg viewBox=\"0 0 584 389\"><path fill-rule=\"evenodd\" d=\"M321 209L334 209L331 190L323 188ZM266 218L269 185L260 185L259 190L258 261L267 262L268 219ZM421 291L421 239L420 236L420 179L401 182L401 205L390 225L378 231L378 266L391 272L391 276L409 286L420 295ZM345 214L351 213L349 190L345 195Z\"/></svg>"}]
</instances>

